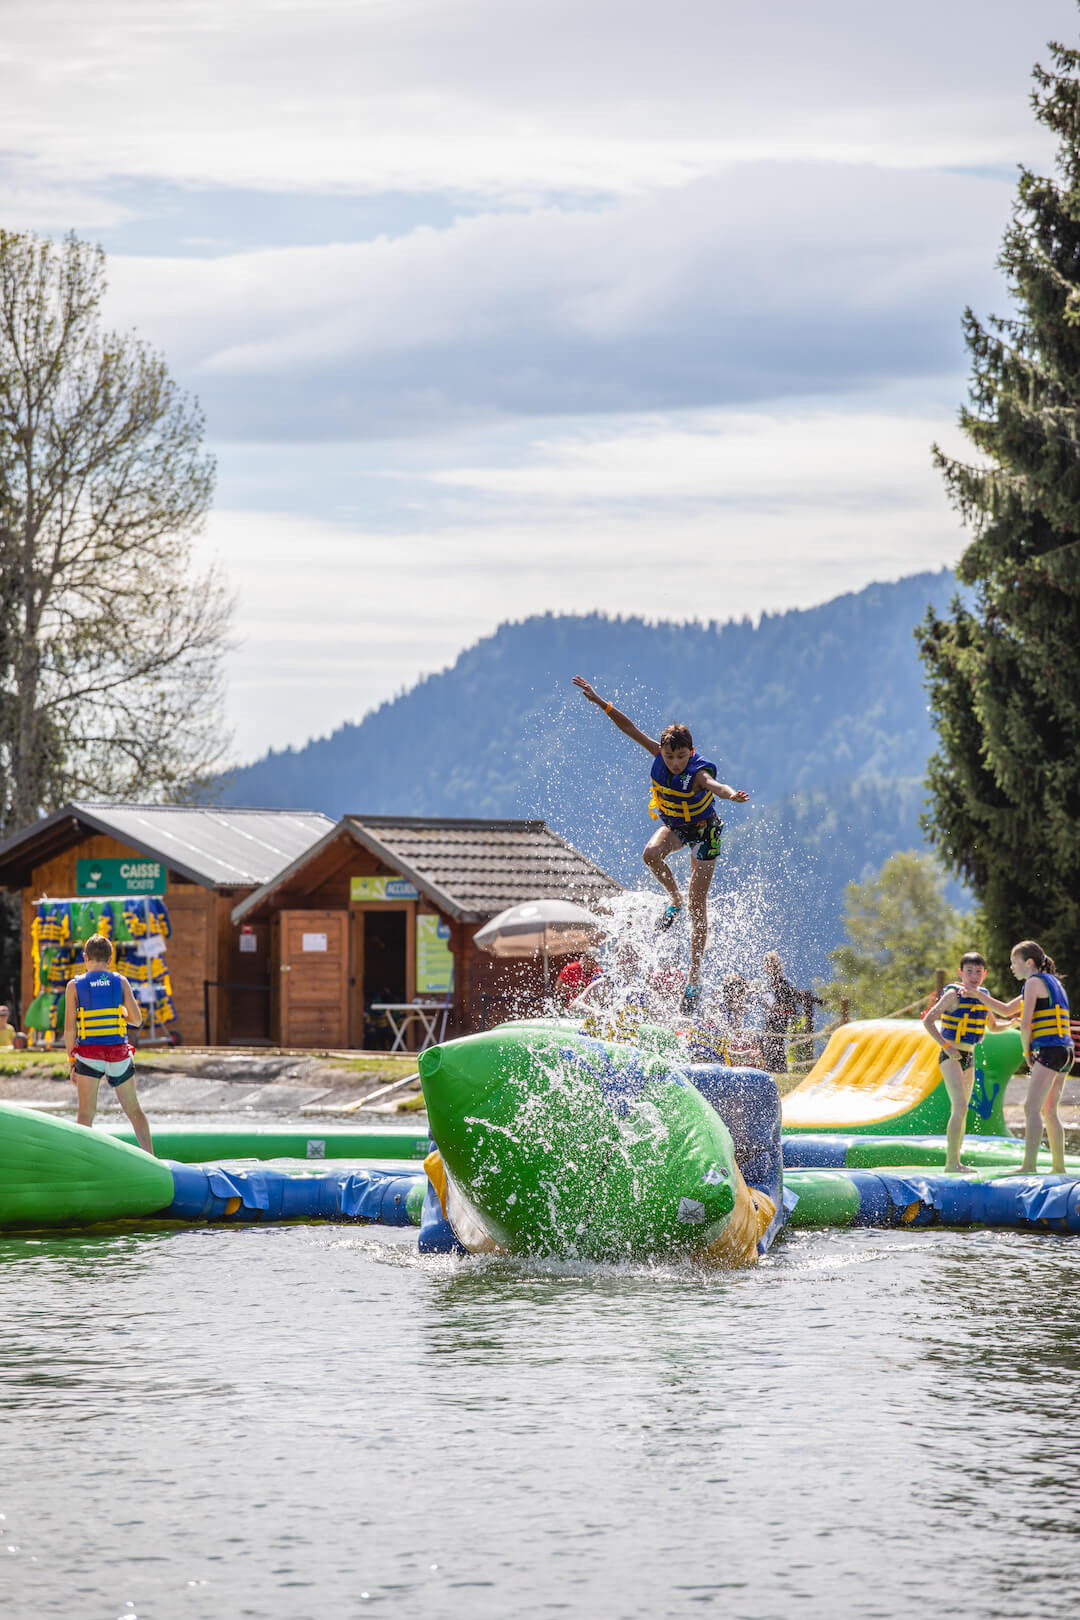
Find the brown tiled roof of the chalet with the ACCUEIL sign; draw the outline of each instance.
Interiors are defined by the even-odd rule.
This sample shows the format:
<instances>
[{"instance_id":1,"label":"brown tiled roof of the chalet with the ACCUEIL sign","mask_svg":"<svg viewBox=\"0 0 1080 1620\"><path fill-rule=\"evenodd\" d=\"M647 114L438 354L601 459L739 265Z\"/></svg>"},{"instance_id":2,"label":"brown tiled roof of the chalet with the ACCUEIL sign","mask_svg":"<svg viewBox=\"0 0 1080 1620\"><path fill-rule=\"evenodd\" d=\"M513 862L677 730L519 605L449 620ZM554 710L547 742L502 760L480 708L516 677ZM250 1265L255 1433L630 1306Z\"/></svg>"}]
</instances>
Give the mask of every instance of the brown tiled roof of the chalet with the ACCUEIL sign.
<instances>
[{"instance_id":1,"label":"brown tiled roof of the chalet with the ACCUEIL sign","mask_svg":"<svg viewBox=\"0 0 1080 1620\"><path fill-rule=\"evenodd\" d=\"M408 878L458 922L483 922L518 901L573 899L589 906L620 891L612 876L544 821L347 815L319 844L241 901L233 922L253 915L342 836Z\"/></svg>"}]
</instances>

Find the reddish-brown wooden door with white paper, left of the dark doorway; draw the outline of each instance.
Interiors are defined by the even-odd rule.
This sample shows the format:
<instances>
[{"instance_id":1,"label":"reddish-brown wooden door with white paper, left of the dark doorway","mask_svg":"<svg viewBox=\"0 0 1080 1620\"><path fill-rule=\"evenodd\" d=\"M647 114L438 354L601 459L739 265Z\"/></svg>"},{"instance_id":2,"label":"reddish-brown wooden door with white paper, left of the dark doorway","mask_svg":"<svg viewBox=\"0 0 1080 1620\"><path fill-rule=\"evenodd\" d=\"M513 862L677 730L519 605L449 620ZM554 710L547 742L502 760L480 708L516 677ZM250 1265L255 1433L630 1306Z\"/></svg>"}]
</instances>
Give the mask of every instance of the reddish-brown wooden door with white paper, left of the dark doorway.
<instances>
[{"instance_id":1,"label":"reddish-brown wooden door with white paper, left of the dark doorway","mask_svg":"<svg viewBox=\"0 0 1080 1620\"><path fill-rule=\"evenodd\" d=\"M283 1047L348 1040L348 912L282 912Z\"/></svg>"}]
</instances>

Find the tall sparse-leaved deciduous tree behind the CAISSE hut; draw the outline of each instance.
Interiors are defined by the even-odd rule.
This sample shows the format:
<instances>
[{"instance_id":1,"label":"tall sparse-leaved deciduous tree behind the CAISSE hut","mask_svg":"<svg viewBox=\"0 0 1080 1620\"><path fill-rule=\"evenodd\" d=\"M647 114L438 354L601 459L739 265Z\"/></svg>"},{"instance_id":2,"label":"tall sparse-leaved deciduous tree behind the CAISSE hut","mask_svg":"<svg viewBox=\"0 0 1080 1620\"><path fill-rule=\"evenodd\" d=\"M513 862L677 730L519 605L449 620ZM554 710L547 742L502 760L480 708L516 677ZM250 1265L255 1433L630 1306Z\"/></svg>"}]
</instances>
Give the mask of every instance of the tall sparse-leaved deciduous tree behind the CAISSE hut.
<instances>
[{"instance_id":1,"label":"tall sparse-leaved deciduous tree behind the CAISSE hut","mask_svg":"<svg viewBox=\"0 0 1080 1620\"><path fill-rule=\"evenodd\" d=\"M0 230L0 825L180 797L220 765L230 599L191 570L214 489L164 360L104 332L100 248Z\"/></svg>"}]
</instances>

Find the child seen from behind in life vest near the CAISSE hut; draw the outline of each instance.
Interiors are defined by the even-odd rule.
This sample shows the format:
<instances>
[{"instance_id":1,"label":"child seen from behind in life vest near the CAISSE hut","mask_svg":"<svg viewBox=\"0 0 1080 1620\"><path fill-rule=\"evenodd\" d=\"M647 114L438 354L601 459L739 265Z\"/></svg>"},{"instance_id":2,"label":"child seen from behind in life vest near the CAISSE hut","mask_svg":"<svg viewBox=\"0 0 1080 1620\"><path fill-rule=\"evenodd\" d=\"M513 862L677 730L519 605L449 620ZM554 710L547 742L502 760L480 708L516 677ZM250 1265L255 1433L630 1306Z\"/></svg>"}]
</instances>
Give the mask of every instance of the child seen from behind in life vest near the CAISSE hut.
<instances>
[{"instance_id":1,"label":"child seen from behind in life vest near the CAISSE hut","mask_svg":"<svg viewBox=\"0 0 1080 1620\"><path fill-rule=\"evenodd\" d=\"M97 1087L108 1081L144 1153L154 1152L151 1128L134 1095L134 1058L128 1025L142 1022L142 1011L121 974L110 972L112 941L92 933L83 946L86 972L68 980L63 1008L63 1043L79 1094L79 1124L92 1126Z\"/></svg>"}]
</instances>

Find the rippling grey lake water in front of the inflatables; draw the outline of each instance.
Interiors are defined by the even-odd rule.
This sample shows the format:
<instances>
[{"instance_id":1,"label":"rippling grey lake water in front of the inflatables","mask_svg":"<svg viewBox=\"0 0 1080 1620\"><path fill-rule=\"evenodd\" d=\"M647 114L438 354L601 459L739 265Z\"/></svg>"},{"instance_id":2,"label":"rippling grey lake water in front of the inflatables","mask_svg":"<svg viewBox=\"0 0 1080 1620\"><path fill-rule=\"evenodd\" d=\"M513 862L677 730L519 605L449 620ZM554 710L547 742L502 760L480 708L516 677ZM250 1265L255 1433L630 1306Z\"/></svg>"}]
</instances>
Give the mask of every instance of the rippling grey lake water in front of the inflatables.
<instances>
[{"instance_id":1,"label":"rippling grey lake water in front of the inflatables","mask_svg":"<svg viewBox=\"0 0 1080 1620\"><path fill-rule=\"evenodd\" d=\"M1080 1243L0 1243L13 1620L1074 1615Z\"/></svg>"}]
</instances>

